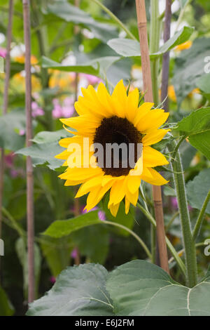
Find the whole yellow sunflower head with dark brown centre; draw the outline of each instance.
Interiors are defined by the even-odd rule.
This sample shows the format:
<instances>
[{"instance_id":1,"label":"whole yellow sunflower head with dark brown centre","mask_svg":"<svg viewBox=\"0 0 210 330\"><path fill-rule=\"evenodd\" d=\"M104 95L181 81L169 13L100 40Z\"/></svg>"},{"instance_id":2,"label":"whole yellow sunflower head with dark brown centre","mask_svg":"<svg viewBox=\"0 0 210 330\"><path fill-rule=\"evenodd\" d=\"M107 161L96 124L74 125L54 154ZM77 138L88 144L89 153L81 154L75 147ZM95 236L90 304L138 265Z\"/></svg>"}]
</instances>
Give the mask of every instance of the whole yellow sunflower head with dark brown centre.
<instances>
[{"instance_id":1,"label":"whole yellow sunflower head with dark brown centre","mask_svg":"<svg viewBox=\"0 0 210 330\"><path fill-rule=\"evenodd\" d=\"M125 200L125 213L130 209L130 203L137 204L141 180L152 185L164 185L167 180L153 167L168 164L163 154L151 145L158 143L169 129L160 129L169 114L162 109L152 109L153 103L143 103L139 106L139 90L127 95L123 80L119 81L112 95L100 83L97 91L92 86L82 88L83 96L79 96L75 103L78 117L60 119L65 126L73 128L73 137L64 138L59 145L66 150L58 154L58 159L65 159L66 171L59 178L66 180L65 185L80 185L76 197L87 196L85 209L90 211L96 206L104 194L110 190L108 207L116 216L120 202ZM85 138L85 139L84 139ZM87 139L88 138L88 139ZM84 143L87 140L87 143ZM73 148L77 143L82 154L82 166L73 167L71 164ZM134 145L134 166L123 166L121 157L119 166L101 166L91 145L124 143ZM139 156L137 146L141 144L142 152ZM88 151L87 151L88 150ZM85 156L89 157L86 157ZM76 155L74 154L76 157ZM113 154L112 154L113 157ZM128 157L128 154L127 154Z\"/></svg>"}]
</instances>

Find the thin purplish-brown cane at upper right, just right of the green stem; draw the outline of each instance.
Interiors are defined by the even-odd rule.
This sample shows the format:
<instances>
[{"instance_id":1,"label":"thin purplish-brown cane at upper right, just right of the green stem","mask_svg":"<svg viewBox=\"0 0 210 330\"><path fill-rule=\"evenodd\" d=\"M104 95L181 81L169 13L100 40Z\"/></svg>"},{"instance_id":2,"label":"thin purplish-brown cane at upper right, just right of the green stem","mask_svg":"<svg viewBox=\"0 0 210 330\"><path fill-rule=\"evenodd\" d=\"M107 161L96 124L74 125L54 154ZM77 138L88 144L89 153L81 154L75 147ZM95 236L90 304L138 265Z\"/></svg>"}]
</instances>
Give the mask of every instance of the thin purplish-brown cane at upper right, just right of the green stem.
<instances>
[{"instance_id":1,"label":"thin purplish-brown cane at upper right, just right of the green stem","mask_svg":"<svg viewBox=\"0 0 210 330\"><path fill-rule=\"evenodd\" d=\"M170 38L171 32L171 19L172 19L172 0L165 1L165 27L163 33L164 42ZM169 86L169 52L165 53L162 58L162 87L161 87L161 100L162 107L165 111L169 111L168 86Z\"/></svg>"}]
</instances>

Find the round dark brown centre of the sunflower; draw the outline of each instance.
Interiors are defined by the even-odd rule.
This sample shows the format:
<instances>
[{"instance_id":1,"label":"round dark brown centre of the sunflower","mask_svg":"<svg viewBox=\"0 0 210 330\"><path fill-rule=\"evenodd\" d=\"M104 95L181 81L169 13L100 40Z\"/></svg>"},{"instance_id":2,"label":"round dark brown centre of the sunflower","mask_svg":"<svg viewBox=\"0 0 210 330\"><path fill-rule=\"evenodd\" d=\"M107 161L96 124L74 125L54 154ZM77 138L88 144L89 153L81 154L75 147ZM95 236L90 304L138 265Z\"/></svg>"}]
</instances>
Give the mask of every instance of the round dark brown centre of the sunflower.
<instances>
[{"instance_id":1,"label":"round dark brown centre of the sunflower","mask_svg":"<svg viewBox=\"0 0 210 330\"><path fill-rule=\"evenodd\" d=\"M141 138L141 133L126 118L117 116L104 118L96 129L93 140L95 152L98 150L97 143L103 147L102 159L97 157L98 166L103 169L107 176L127 176L139 158L138 144L141 143ZM115 152L111 145L118 145L119 153ZM133 165L130 164L132 158Z\"/></svg>"}]
</instances>

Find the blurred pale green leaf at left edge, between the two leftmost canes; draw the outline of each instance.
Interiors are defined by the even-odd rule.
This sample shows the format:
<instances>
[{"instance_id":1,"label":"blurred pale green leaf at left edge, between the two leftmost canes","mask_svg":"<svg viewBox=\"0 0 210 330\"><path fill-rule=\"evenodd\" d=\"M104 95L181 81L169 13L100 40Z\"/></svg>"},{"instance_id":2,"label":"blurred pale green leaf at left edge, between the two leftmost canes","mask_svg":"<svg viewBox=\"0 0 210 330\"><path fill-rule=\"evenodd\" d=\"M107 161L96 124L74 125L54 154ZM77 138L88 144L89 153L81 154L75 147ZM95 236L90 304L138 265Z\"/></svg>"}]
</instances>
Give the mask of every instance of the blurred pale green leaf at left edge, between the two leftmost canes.
<instances>
[{"instance_id":1,"label":"blurred pale green leaf at left edge, between the two leftmost canes","mask_svg":"<svg viewBox=\"0 0 210 330\"><path fill-rule=\"evenodd\" d=\"M18 150L25 144L25 137L15 129L25 129L25 111L15 109L0 117L0 147L7 150Z\"/></svg>"}]
</instances>

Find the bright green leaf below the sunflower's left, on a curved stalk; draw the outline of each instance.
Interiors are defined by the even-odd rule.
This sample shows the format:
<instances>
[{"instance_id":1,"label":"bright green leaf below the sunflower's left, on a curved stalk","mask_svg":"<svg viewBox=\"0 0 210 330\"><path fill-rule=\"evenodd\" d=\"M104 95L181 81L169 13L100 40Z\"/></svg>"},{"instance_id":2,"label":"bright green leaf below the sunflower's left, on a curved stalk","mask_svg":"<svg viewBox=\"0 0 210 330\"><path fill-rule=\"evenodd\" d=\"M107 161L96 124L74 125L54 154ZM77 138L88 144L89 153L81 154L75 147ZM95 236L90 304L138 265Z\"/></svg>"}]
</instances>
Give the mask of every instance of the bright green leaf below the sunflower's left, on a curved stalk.
<instances>
[{"instance_id":1,"label":"bright green leaf below the sunflower's left, on a curved stalk","mask_svg":"<svg viewBox=\"0 0 210 330\"><path fill-rule=\"evenodd\" d=\"M102 223L102 220L99 220L98 211L90 211L69 220L54 221L54 223L43 232L43 235L59 238L69 235L71 232L80 228L95 225L97 223Z\"/></svg>"}]
</instances>

